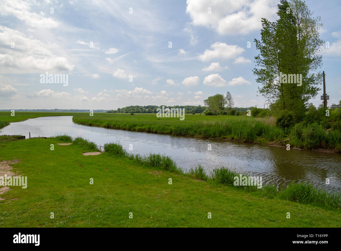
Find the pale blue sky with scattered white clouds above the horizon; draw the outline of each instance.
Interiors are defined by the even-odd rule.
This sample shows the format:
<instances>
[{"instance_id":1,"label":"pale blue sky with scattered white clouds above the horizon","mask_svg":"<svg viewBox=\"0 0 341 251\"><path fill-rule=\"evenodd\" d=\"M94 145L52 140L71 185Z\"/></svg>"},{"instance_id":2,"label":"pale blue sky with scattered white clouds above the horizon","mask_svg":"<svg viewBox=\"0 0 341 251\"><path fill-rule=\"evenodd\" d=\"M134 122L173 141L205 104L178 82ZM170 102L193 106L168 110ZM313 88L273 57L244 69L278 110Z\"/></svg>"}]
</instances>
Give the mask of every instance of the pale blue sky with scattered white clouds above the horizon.
<instances>
[{"instance_id":1,"label":"pale blue sky with scattered white clouds above the horizon","mask_svg":"<svg viewBox=\"0 0 341 251\"><path fill-rule=\"evenodd\" d=\"M0 109L197 106L227 91L235 107L264 107L254 39L261 18L278 19L278 3L0 0ZM321 71L328 104L338 103L341 2L306 3L323 23ZM44 81L46 72L67 84Z\"/></svg>"}]
</instances>

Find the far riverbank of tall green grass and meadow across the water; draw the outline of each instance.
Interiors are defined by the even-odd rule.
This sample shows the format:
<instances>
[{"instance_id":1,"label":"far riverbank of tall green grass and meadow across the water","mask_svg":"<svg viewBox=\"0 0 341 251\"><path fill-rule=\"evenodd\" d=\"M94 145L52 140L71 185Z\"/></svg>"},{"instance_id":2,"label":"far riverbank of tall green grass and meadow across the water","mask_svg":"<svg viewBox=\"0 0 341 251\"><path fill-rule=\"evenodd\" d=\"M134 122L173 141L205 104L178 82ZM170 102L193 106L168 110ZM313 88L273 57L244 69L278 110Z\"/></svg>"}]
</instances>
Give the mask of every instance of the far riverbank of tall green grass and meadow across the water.
<instances>
[{"instance_id":1,"label":"far riverbank of tall green grass and meadow across the water","mask_svg":"<svg viewBox=\"0 0 341 251\"><path fill-rule=\"evenodd\" d=\"M147 133L212 139L238 140L256 144L290 144L306 150L330 149L341 152L339 131L326 131L321 125L297 124L291 129L275 126L275 119L250 116L186 114L185 119L158 118L155 114L128 113L77 114L73 122L88 126L140 131Z\"/></svg>"}]
</instances>

